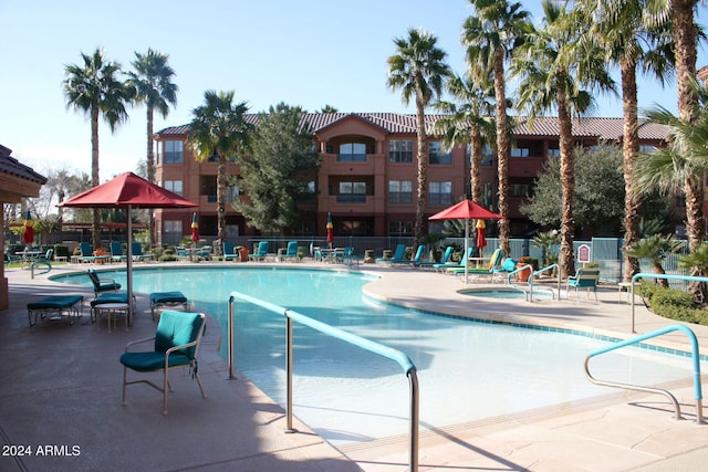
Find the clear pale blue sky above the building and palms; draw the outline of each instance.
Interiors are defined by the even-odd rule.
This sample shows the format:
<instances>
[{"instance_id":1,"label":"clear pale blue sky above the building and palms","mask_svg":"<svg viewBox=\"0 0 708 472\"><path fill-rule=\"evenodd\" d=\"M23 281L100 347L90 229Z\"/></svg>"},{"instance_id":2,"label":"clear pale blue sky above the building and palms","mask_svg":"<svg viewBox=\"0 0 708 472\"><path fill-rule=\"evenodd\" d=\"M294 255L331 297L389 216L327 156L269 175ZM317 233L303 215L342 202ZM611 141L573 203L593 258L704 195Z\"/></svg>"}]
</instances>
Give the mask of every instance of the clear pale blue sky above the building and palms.
<instances>
[{"instance_id":1,"label":"clear pale blue sky above the building and palms","mask_svg":"<svg viewBox=\"0 0 708 472\"><path fill-rule=\"evenodd\" d=\"M523 3L540 18L540 1ZM253 113L279 102L310 112L415 113L386 87L394 38L409 28L433 32L461 73L460 31L470 14L466 0L0 0L0 144L40 172L90 172L90 124L66 108L62 81L66 64L97 46L126 70L135 51L169 54L178 104L167 119L156 116L155 130L189 123L207 90L232 90ZM701 50L698 66L707 61ZM675 83L643 82L639 103L675 111ZM622 116L617 98L598 105L597 116ZM113 135L100 124L102 180L145 159L145 108L129 114Z\"/></svg>"}]
</instances>

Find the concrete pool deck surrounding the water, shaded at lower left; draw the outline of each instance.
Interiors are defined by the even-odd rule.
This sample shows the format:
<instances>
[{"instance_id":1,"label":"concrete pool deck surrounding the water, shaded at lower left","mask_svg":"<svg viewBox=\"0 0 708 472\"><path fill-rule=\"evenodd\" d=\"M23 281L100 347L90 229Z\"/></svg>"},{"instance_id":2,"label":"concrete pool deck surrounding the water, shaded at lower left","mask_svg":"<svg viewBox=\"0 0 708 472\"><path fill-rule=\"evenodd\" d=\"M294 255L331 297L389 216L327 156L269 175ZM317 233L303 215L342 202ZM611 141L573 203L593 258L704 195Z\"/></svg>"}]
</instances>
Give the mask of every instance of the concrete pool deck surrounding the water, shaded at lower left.
<instances>
[{"instance_id":1,"label":"concrete pool deck surrounding the water, shaded at lower left","mask_svg":"<svg viewBox=\"0 0 708 472\"><path fill-rule=\"evenodd\" d=\"M225 265L235 264L241 266ZM288 264L295 265L344 269L321 263ZM49 275L86 268L60 265ZM631 308L616 286L602 287L598 304L592 298L585 301L584 295L580 303L527 303L459 294L466 289L464 283L430 270L381 264L362 264L361 270L382 275L366 286L369 295L418 310L612 337L632 336ZM189 376L175 371L170 376L175 392L169 397L168 416L162 415L160 394L147 386L129 386L128 406L123 407L118 357L126 342L154 334L147 295L138 294L138 314L128 332L118 324L108 333L105 324L96 331L88 321L87 306L93 298L88 286L54 283L46 275L32 280L29 271L20 269L7 270L6 276L10 308L0 313L2 471L407 470L405 436L337 450L296 420L300 432L284 433L281 407L247 379L227 379L227 365L217 354L221 339L214 318L209 319L199 353L206 399ZM487 284L469 284L478 286ZM77 324L45 321L29 327L27 303L66 293L84 295L83 316ZM675 324L642 305L635 310L638 334ZM701 353L708 354L708 327L690 327L698 336ZM686 349L688 345L681 333L659 340L667 347ZM705 373L702 377L706 378ZM572 405L442 428L421 424L419 470L705 470L708 424L694 422L693 386L679 382L671 391L681 405L683 421L673 419L673 407L663 396L608 388L606 396ZM708 416L706 408L702 415ZM32 455L19 457L14 454L18 450L7 444L31 447Z\"/></svg>"}]
</instances>

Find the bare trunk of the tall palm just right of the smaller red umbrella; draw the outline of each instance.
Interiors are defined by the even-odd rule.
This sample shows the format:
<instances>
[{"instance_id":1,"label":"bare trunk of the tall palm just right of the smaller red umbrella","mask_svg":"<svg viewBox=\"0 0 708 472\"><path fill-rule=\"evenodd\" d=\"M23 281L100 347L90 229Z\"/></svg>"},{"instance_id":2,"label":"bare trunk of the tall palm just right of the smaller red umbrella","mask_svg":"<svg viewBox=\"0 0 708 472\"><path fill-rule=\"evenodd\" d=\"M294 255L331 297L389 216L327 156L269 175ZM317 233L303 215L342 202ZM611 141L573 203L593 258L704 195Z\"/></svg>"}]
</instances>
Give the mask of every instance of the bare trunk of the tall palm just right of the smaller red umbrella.
<instances>
[{"instance_id":1,"label":"bare trunk of the tall palm just right of the smaller red umbrella","mask_svg":"<svg viewBox=\"0 0 708 472\"><path fill-rule=\"evenodd\" d=\"M511 145L509 143L509 117L507 116L507 83L504 81L503 51L494 51L494 98L497 113L497 174L499 179L499 214L509 216L509 160ZM506 254L511 252L509 245L509 219L499 220L499 245Z\"/></svg>"}]
</instances>

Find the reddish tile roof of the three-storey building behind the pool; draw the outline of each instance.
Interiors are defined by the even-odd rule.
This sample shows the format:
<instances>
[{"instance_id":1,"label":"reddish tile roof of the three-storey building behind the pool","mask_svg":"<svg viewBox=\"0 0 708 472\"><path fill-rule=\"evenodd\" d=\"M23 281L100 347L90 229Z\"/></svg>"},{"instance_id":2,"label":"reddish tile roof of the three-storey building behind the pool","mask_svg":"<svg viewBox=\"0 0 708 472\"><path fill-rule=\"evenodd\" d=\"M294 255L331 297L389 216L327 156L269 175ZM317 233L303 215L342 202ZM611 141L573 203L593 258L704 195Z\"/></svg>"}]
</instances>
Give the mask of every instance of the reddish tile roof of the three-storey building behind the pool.
<instances>
[{"instance_id":1,"label":"reddish tile roof of the three-storey building behind the pool","mask_svg":"<svg viewBox=\"0 0 708 472\"><path fill-rule=\"evenodd\" d=\"M248 114L247 122L258 123L257 114ZM314 133L323 129L334 123L348 116L357 116L365 122L385 129L391 134L415 134L416 115L399 113L305 113L303 122L310 124ZM428 135L435 135L435 123L444 115L426 114L426 132ZM527 136L558 136L559 126L556 117L538 117L533 126L531 126L527 117L517 117L513 119L514 135ZM575 137L593 137L600 140L620 140L623 135L623 118L603 118L603 117L582 117L573 119L573 136ZM171 126L157 132L162 136L186 135L189 132L189 125ZM666 139L668 133L664 125L639 122L641 139Z\"/></svg>"}]
</instances>

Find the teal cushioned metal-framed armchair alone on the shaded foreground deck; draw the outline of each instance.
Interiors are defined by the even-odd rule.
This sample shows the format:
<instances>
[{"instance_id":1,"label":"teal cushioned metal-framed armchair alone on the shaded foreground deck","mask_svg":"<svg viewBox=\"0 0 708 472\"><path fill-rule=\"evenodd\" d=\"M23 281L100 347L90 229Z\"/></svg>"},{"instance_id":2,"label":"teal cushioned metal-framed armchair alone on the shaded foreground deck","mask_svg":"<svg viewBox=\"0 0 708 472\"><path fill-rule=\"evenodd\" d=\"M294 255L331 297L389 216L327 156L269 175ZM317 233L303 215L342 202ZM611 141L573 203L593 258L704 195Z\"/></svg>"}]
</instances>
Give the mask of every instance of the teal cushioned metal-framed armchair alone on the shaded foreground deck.
<instances>
[{"instance_id":1,"label":"teal cushioned metal-framed armchair alone on the shaded foreground deck","mask_svg":"<svg viewBox=\"0 0 708 472\"><path fill-rule=\"evenodd\" d=\"M160 314L154 337L138 339L125 345L125 353L121 356L123 364L123 406L127 405L127 386L147 384L163 392L163 415L167 415L167 391L173 391L169 382L169 370L187 367L192 378L197 380L201 397L206 398L199 369L197 353L206 326L204 313L171 312ZM154 340L154 349L148 352L129 352L131 346ZM128 369L137 373L163 373L162 387L147 379L128 381Z\"/></svg>"}]
</instances>

